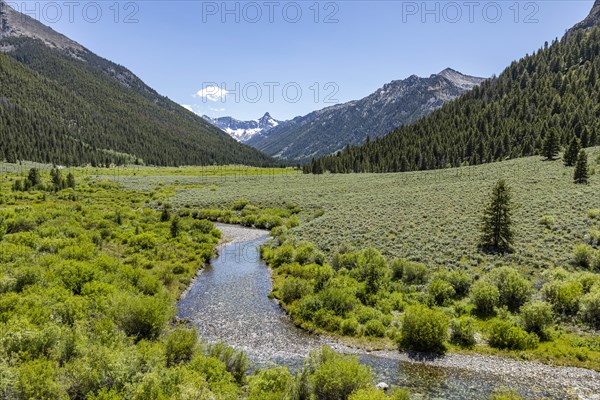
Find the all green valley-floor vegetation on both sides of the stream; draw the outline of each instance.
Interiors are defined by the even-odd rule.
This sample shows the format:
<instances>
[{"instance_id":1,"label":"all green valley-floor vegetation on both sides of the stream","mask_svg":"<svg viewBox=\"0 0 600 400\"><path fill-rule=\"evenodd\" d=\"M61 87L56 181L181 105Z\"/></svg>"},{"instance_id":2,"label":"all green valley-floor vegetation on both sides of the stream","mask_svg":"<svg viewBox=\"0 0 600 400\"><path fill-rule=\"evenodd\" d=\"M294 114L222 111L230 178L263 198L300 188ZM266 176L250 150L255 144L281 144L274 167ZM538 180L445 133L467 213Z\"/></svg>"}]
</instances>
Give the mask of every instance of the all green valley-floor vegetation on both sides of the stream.
<instances>
[{"instance_id":1,"label":"all green valley-floor vegetation on both sides of the stream","mask_svg":"<svg viewBox=\"0 0 600 400\"><path fill-rule=\"evenodd\" d=\"M243 354L203 345L173 320L174 302L218 241L208 220L271 229L275 240L262 254L274 268L273 295L306 329L370 348L598 370L599 152L588 152L588 185L539 157L320 177L235 167L155 176L78 168L69 176L4 165L0 390L9 398L383 396L369 392L372 375L356 359L328 350L295 376L281 368L244 375ZM485 253L478 227L499 178L516 204L514 245ZM365 217L387 234L363 235Z\"/></svg>"}]
</instances>

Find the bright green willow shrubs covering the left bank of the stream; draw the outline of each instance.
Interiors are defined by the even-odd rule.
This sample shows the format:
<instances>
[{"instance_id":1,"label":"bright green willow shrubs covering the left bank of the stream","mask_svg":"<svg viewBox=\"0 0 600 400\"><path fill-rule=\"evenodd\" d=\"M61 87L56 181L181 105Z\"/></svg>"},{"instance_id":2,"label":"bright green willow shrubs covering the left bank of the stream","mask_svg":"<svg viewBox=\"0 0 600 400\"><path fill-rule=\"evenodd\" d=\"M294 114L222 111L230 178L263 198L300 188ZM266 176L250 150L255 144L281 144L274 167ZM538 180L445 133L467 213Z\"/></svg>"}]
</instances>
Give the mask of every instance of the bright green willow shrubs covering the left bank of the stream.
<instances>
[{"instance_id":1,"label":"bright green willow shrubs covering the left bank of the stream","mask_svg":"<svg viewBox=\"0 0 600 400\"><path fill-rule=\"evenodd\" d=\"M243 353L199 342L174 306L213 256L220 232L204 217L220 211L174 210L172 188L122 190L90 171L2 175L0 398L388 398L356 358L328 349L296 376L247 375Z\"/></svg>"}]
</instances>

